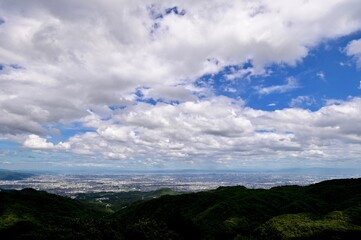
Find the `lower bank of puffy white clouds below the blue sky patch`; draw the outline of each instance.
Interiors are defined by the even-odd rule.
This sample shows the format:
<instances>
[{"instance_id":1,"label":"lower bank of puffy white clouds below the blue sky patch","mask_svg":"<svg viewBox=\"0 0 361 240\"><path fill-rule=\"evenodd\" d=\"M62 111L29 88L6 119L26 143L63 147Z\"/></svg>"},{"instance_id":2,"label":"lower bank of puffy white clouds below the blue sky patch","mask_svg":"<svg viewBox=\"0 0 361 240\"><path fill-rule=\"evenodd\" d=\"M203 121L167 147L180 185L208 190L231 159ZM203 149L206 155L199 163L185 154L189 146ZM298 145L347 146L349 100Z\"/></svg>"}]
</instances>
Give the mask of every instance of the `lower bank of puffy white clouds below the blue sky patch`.
<instances>
[{"instance_id":1,"label":"lower bank of puffy white clouds below the blue sky patch","mask_svg":"<svg viewBox=\"0 0 361 240\"><path fill-rule=\"evenodd\" d=\"M254 110L224 97L179 105L138 104L113 116L112 121L93 125L95 132L73 136L56 146L32 137L39 144L25 142L24 146L158 163L357 160L361 154L360 114L360 98L315 112Z\"/></svg>"}]
</instances>

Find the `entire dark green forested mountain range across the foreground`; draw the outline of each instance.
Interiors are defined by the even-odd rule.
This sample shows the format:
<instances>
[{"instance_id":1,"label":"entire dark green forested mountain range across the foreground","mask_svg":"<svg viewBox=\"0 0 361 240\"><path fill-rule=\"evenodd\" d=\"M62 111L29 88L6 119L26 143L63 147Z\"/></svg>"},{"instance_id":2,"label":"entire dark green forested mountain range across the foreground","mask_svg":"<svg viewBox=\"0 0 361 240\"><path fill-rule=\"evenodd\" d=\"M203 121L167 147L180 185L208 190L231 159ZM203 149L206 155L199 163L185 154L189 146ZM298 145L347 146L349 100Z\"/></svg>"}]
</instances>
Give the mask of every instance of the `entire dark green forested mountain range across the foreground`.
<instances>
[{"instance_id":1,"label":"entire dark green forested mountain range across the foreground","mask_svg":"<svg viewBox=\"0 0 361 240\"><path fill-rule=\"evenodd\" d=\"M162 190L159 195L167 192ZM86 197L79 201L33 189L2 190L0 236L54 240L361 239L361 179L269 190L220 187L127 202L114 213L95 204L93 197L89 202ZM112 203L116 199L112 198Z\"/></svg>"}]
</instances>

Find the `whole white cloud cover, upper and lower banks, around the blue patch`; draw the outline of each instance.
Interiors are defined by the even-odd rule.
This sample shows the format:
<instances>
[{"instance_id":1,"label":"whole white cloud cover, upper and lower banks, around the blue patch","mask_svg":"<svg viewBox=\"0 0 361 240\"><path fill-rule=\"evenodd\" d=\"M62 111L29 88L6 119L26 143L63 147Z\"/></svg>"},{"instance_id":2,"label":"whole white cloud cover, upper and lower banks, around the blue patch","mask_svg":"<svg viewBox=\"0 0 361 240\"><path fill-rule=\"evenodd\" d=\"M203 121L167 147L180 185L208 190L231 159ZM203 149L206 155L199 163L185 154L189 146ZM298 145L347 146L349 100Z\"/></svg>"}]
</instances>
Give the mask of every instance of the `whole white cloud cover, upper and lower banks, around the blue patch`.
<instances>
[{"instance_id":1,"label":"whole white cloud cover, upper and lower banks, around the blue patch","mask_svg":"<svg viewBox=\"0 0 361 240\"><path fill-rule=\"evenodd\" d=\"M342 111L357 112L359 100L265 112L194 82L230 65L252 63L229 81L295 65L325 39L361 29L360 12L358 0L3 0L0 134L30 134L27 148L113 159L321 156L358 144L348 127L358 117ZM347 53L358 56L357 46ZM298 84L265 86L260 94ZM140 103L151 100L163 103ZM39 137L78 123L91 130L56 145Z\"/></svg>"}]
</instances>

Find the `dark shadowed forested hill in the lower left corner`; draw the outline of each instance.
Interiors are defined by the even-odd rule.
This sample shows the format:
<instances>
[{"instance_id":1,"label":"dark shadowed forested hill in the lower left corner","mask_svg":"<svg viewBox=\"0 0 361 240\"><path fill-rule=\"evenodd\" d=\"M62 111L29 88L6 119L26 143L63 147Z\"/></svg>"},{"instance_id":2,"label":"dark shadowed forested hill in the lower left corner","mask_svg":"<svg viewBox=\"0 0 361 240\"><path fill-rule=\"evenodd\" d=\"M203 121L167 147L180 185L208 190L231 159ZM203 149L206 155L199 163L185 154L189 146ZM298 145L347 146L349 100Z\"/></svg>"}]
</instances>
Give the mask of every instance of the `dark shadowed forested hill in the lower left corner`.
<instances>
[{"instance_id":1,"label":"dark shadowed forested hill in the lower left corner","mask_svg":"<svg viewBox=\"0 0 361 240\"><path fill-rule=\"evenodd\" d=\"M104 222L94 220L103 215L87 204L43 191L0 191L1 239L104 239Z\"/></svg>"}]
</instances>

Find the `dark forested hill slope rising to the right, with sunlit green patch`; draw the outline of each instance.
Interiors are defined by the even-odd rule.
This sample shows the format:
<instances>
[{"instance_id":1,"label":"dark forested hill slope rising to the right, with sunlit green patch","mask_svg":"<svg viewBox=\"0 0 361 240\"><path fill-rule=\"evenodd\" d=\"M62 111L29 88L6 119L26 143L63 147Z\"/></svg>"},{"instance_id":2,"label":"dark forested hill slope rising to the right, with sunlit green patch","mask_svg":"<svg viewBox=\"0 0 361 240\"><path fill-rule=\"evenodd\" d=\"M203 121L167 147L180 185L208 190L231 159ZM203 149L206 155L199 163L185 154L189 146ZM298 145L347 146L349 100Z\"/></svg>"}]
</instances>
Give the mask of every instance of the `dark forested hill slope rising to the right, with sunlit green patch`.
<instances>
[{"instance_id":1,"label":"dark forested hill slope rising to the right, with sunlit green patch","mask_svg":"<svg viewBox=\"0 0 361 240\"><path fill-rule=\"evenodd\" d=\"M140 238L150 221L180 239L361 239L361 179L165 196L115 218L131 230L129 238Z\"/></svg>"}]
</instances>

